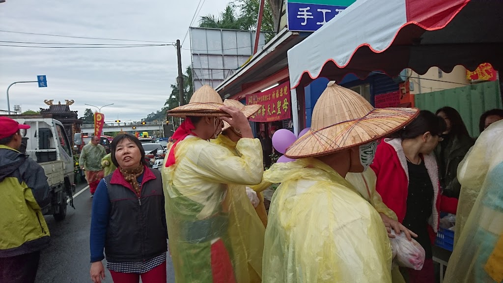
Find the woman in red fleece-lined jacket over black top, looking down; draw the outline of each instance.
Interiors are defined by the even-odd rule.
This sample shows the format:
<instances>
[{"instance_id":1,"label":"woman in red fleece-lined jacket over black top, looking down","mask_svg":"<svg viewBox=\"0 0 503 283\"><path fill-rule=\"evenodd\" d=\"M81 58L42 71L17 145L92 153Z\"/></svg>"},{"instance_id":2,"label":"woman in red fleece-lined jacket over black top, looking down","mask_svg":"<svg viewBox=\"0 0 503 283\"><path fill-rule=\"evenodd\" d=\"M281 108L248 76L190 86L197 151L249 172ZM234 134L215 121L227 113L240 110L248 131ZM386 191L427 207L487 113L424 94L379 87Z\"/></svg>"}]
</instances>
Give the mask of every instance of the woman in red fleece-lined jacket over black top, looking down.
<instances>
[{"instance_id":1,"label":"woman in red fleece-lined jacket over black top, looking down","mask_svg":"<svg viewBox=\"0 0 503 283\"><path fill-rule=\"evenodd\" d=\"M455 214L457 199L441 195L438 166L432 154L445 131L445 121L430 111L377 146L373 164L376 190L398 221L418 235L426 260L422 270L407 269L410 283L435 282L432 245L440 211Z\"/></svg>"}]
</instances>

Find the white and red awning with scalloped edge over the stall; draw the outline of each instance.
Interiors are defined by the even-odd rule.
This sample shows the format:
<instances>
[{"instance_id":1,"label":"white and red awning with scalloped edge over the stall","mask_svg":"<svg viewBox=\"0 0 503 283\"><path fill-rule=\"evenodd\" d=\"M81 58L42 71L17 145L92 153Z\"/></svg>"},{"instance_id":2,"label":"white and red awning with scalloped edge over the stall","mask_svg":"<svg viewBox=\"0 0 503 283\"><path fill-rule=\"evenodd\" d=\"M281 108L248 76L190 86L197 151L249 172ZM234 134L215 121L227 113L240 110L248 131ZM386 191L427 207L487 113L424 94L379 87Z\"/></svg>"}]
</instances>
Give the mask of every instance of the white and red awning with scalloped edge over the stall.
<instances>
[{"instance_id":1,"label":"white and red awning with scalloped edge over the stall","mask_svg":"<svg viewBox=\"0 0 503 283\"><path fill-rule=\"evenodd\" d=\"M288 51L290 84L503 63L502 0L358 0Z\"/></svg>"}]
</instances>

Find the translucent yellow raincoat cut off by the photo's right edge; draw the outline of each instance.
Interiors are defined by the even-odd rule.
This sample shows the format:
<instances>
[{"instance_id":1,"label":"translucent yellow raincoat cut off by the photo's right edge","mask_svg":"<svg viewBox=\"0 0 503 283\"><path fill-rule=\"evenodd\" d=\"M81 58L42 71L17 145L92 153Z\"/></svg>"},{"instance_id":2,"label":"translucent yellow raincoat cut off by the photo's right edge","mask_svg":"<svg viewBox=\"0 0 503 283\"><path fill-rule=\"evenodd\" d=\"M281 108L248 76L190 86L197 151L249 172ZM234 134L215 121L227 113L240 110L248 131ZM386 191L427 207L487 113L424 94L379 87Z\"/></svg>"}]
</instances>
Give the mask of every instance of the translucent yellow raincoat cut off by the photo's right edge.
<instances>
[{"instance_id":1,"label":"translucent yellow raincoat cut off by the photo's right edge","mask_svg":"<svg viewBox=\"0 0 503 283\"><path fill-rule=\"evenodd\" d=\"M482 132L458 169L461 193L456 215L457 241L447 266L445 283L503 281L501 137L503 120Z\"/></svg>"}]
</instances>

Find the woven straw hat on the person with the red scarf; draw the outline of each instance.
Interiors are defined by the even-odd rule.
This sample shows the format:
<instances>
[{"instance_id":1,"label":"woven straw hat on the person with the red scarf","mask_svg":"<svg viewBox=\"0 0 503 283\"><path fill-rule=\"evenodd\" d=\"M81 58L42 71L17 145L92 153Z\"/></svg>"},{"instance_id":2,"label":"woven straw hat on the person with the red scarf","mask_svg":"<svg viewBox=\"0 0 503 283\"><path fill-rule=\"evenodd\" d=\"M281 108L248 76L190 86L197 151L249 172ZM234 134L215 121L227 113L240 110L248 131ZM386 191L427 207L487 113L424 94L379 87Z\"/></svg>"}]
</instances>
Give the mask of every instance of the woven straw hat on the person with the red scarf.
<instances>
[{"instance_id":1,"label":"woven straw hat on the person with the red scarf","mask_svg":"<svg viewBox=\"0 0 503 283\"><path fill-rule=\"evenodd\" d=\"M185 118L186 116L230 117L220 107L224 106L220 95L210 86L204 85L192 95L189 103L167 111L168 116Z\"/></svg>"}]
</instances>

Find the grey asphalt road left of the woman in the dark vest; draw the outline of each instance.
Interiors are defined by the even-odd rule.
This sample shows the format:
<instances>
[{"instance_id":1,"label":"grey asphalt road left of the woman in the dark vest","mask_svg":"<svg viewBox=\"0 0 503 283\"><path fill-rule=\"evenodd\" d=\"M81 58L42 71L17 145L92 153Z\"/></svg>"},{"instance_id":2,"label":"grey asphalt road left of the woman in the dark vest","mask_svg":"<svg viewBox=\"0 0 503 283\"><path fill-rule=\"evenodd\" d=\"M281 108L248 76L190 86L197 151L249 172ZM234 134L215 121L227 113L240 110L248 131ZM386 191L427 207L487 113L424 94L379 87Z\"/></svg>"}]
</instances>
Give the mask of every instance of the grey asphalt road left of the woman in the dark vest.
<instances>
[{"instance_id":1,"label":"grey asphalt road left of the woman in the dark vest","mask_svg":"<svg viewBox=\"0 0 503 283\"><path fill-rule=\"evenodd\" d=\"M85 185L77 186L76 193ZM73 199L76 209L68 206L66 219L54 221L52 216L45 220L51 232L51 245L42 252L37 273L37 283L90 283L89 275L89 230L91 226L91 204L89 188L81 191ZM105 260L103 264L106 266ZM108 270L105 280L111 283L112 277ZM175 282L173 263L167 256L167 282Z\"/></svg>"}]
</instances>

